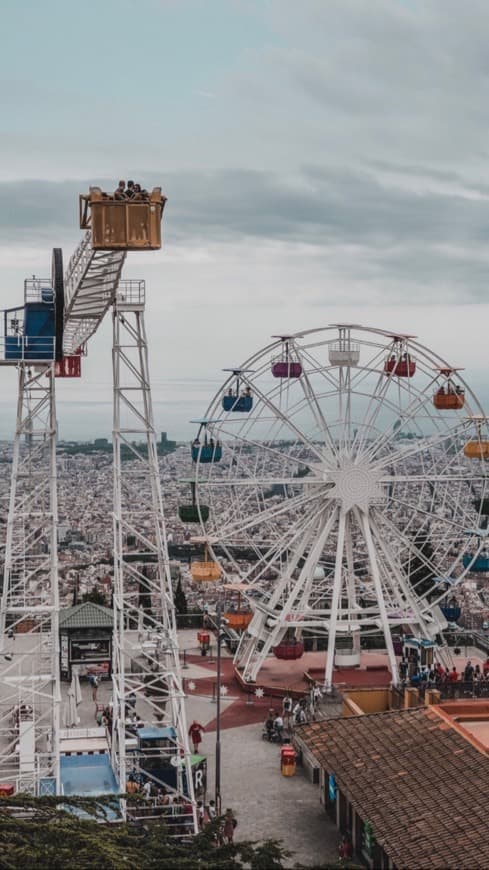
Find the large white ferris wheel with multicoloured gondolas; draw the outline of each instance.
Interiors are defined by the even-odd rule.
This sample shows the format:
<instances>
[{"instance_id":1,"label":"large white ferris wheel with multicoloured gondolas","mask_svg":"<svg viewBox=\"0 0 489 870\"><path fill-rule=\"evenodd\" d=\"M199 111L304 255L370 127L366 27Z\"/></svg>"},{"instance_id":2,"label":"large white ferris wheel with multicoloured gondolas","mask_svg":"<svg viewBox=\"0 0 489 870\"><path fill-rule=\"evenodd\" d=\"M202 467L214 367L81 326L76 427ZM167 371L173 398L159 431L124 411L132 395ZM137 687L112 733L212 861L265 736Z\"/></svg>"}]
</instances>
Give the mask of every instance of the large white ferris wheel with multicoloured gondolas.
<instances>
[{"instance_id":1,"label":"large white ferris wheel with multicoloured gondolas","mask_svg":"<svg viewBox=\"0 0 489 870\"><path fill-rule=\"evenodd\" d=\"M192 444L192 493L253 611L235 665L255 681L267 656L322 635L330 688L381 634L397 682L396 634L439 640L449 592L489 570L477 397L412 336L350 324L275 337L228 371Z\"/></svg>"}]
</instances>

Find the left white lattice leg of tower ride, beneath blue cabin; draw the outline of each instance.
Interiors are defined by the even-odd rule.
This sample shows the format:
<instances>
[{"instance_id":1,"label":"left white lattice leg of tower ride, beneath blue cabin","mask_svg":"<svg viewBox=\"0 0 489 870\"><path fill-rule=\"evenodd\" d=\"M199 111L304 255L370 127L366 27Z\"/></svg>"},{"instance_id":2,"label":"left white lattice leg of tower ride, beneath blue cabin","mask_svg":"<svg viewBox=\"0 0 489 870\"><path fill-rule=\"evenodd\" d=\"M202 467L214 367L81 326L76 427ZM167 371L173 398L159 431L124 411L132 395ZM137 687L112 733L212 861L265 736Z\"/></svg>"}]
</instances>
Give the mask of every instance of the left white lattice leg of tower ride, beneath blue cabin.
<instances>
[{"instance_id":1,"label":"left white lattice leg of tower ride, beneath blue cabin","mask_svg":"<svg viewBox=\"0 0 489 870\"><path fill-rule=\"evenodd\" d=\"M19 365L0 602L0 779L60 793L56 409L53 365Z\"/></svg>"}]
</instances>

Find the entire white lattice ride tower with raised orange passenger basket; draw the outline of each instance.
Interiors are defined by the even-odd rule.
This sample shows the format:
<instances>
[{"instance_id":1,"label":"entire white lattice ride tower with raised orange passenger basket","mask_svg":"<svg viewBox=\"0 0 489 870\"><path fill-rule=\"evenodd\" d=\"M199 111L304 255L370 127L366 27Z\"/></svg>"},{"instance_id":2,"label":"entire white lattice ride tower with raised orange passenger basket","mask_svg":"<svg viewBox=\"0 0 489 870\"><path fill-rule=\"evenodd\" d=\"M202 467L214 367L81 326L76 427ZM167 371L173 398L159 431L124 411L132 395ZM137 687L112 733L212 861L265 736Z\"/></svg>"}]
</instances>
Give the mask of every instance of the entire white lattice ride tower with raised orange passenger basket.
<instances>
[{"instance_id":1,"label":"entire white lattice ride tower with raised orange passenger basket","mask_svg":"<svg viewBox=\"0 0 489 870\"><path fill-rule=\"evenodd\" d=\"M56 377L80 375L88 340L113 319L114 630L112 768L128 776L128 698L145 700L165 732L163 760L131 756L131 771L192 804L197 830L144 326L143 281L121 281L126 253L161 246L165 198L80 197L85 236L63 276L25 284L5 312L2 363L18 370L17 425L0 604L0 773L15 790L62 794L57 567ZM136 441L137 439L137 441ZM123 455L124 454L124 455ZM124 460L124 461L123 461ZM136 759L136 760L135 760ZM123 811L125 809L122 802Z\"/></svg>"}]
</instances>

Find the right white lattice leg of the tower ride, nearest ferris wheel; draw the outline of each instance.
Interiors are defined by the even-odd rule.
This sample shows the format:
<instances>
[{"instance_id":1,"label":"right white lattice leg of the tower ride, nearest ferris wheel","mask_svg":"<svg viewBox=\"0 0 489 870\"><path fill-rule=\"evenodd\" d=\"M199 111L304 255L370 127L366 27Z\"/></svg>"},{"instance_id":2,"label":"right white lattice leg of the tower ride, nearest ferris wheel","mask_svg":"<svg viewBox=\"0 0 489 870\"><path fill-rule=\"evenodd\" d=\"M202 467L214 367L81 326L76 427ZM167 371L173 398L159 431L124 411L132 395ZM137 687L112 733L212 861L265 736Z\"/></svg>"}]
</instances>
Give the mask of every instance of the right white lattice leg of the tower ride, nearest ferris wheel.
<instances>
[{"instance_id":1,"label":"right white lattice leg of the tower ride, nearest ferris wheel","mask_svg":"<svg viewBox=\"0 0 489 870\"><path fill-rule=\"evenodd\" d=\"M113 308L114 651L112 763L119 787L131 772L157 785L155 766L127 754L128 698L149 705L167 729L165 759L174 772L174 808L192 805L190 750L180 674L168 548L144 326L144 283L119 292ZM188 824L188 822L187 822Z\"/></svg>"}]
</instances>

